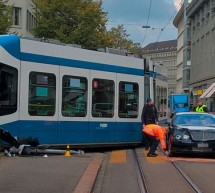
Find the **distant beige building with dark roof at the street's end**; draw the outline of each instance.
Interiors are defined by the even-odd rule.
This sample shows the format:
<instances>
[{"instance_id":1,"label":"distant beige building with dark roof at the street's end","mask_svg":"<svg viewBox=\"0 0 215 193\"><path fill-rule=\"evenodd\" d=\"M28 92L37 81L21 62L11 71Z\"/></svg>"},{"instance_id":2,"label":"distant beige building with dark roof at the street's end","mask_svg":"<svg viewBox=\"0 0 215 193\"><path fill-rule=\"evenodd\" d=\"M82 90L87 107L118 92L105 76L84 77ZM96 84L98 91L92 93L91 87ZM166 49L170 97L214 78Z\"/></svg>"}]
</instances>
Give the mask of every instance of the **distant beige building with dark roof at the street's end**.
<instances>
[{"instance_id":1,"label":"distant beige building with dark roof at the street's end","mask_svg":"<svg viewBox=\"0 0 215 193\"><path fill-rule=\"evenodd\" d=\"M155 42L143 48L144 57L150 58L167 69L168 95L176 93L177 40Z\"/></svg>"}]
</instances>

